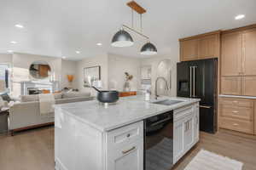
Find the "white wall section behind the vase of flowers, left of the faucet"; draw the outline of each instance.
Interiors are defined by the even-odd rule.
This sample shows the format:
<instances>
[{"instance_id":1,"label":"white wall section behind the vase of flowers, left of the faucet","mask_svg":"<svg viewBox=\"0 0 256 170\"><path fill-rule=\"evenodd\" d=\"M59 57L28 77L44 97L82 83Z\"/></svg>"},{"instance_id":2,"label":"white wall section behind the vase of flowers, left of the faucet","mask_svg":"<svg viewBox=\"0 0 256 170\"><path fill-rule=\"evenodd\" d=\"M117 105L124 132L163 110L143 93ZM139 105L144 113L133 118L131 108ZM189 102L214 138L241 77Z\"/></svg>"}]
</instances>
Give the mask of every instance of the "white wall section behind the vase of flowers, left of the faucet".
<instances>
[{"instance_id":1,"label":"white wall section behind the vase of flowers, left of the faucet","mask_svg":"<svg viewBox=\"0 0 256 170\"><path fill-rule=\"evenodd\" d=\"M108 54L108 88L124 90L125 72L133 76L131 91L137 91L140 80L140 59Z\"/></svg>"}]
</instances>

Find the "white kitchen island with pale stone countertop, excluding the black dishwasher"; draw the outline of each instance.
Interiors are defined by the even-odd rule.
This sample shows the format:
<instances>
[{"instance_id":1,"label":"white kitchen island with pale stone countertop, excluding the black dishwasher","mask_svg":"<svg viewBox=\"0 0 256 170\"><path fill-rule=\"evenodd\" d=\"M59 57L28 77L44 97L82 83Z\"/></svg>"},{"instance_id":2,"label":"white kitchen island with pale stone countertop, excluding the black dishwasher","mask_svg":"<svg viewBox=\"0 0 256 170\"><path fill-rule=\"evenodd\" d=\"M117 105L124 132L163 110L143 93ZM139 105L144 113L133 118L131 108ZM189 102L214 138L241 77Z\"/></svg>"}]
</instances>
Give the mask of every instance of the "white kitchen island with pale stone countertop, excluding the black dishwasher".
<instances>
[{"instance_id":1,"label":"white kitchen island with pale stone countertop, excluding the black dishwasher","mask_svg":"<svg viewBox=\"0 0 256 170\"><path fill-rule=\"evenodd\" d=\"M164 100L177 104L156 104ZM143 96L55 105L55 169L143 170L145 120L172 111L175 164L199 140L200 99ZM170 132L171 134L171 132Z\"/></svg>"}]
</instances>

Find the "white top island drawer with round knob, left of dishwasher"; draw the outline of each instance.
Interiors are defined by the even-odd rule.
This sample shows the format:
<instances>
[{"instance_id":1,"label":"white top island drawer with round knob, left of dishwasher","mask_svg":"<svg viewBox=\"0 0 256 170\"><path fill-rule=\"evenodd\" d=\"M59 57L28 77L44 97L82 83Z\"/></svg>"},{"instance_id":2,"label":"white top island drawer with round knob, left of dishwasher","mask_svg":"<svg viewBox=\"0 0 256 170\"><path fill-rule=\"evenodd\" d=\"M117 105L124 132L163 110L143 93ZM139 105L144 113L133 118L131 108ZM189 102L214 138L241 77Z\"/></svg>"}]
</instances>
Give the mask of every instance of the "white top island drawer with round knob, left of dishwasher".
<instances>
[{"instance_id":1,"label":"white top island drawer with round knob, left of dishwasher","mask_svg":"<svg viewBox=\"0 0 256 170\"><path fill-rule=\"evenodd\" d=\"M143 139L143 121L120 127L107 134L108 147L119 147Z\"/></svg>"}]
</instances>

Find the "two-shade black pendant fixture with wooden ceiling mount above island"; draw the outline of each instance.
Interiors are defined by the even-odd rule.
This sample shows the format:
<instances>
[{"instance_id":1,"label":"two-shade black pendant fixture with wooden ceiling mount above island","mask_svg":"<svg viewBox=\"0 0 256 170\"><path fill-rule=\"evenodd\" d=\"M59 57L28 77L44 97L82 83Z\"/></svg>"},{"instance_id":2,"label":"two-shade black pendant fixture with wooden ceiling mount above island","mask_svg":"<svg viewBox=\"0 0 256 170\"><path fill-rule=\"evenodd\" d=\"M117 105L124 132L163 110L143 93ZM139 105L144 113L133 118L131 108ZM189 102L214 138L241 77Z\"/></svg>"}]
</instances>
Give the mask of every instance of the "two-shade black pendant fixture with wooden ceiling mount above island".
<instances>
[{"instance_id":1,"label":"two-shade black pendant fixture with wooden ceiling mount above island","mask_svg":"<svg viewBox=\"0 0 256 170\"><path fill-rule=\"evenodd\" d=\"M143 14L146 13L147 11L134 1L127 3L127 5L131 8L131 27L122 25L121 29L117 33L115 33L115 35L113 36L111 45L113 47L130 47L130 46L132 46L134 44L134 42L133 42L131 35L128 32L128 31L132 31L132 32L136 33L137 35L146 38L148 41L146 44L143 45L143 48L141 49L141 54L146 54L146 55L157 54L157 48L155 48L154 44L149 41L149 37L147 37L143 34ZM141 21L141 23L140 23L141 30L140 31L137 31L133 27L133 12L134 11L136 11L137 14L140 14L140 21Z\"/></svg>"}]
</instances>

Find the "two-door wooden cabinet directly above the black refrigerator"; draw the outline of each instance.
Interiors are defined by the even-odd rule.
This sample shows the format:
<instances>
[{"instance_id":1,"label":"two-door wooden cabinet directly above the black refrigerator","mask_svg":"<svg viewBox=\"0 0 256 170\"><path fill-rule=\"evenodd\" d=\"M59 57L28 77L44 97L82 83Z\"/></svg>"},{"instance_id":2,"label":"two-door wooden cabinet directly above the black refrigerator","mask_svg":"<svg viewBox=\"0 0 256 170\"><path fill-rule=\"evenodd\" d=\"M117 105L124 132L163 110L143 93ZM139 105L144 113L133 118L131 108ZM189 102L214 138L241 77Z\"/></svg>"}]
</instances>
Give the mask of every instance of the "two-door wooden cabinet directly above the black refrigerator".
<instances>
[{"instance_id":1,"label":"two-door wooden cabinet directly above the black refrigerator","mask_svg":"<svg viewBox=\"0 0 256 170\"><path fill-rule=\"evenodd\" d=\"M180 39L180 60L218 58L220 31Z\"/></svg>"}]
</instances>

